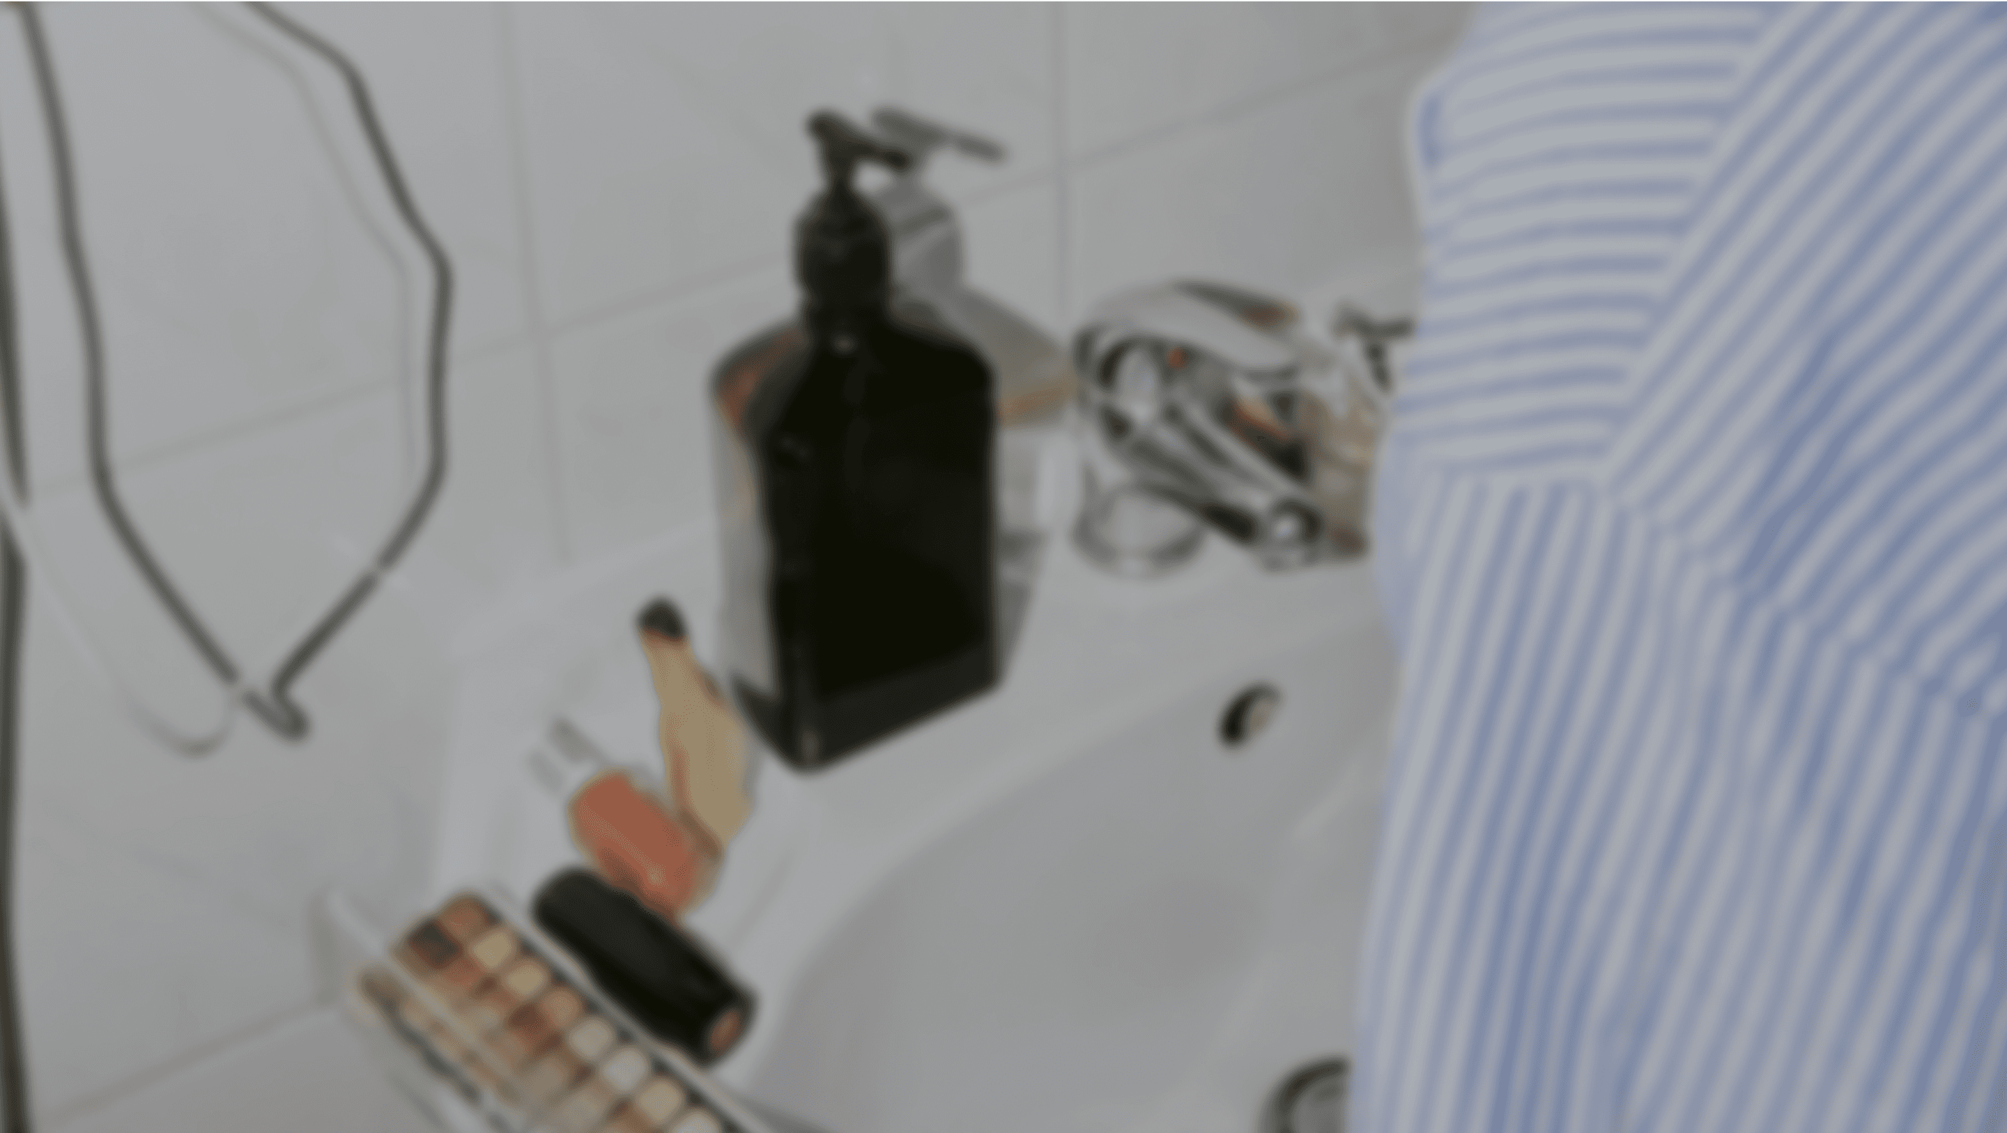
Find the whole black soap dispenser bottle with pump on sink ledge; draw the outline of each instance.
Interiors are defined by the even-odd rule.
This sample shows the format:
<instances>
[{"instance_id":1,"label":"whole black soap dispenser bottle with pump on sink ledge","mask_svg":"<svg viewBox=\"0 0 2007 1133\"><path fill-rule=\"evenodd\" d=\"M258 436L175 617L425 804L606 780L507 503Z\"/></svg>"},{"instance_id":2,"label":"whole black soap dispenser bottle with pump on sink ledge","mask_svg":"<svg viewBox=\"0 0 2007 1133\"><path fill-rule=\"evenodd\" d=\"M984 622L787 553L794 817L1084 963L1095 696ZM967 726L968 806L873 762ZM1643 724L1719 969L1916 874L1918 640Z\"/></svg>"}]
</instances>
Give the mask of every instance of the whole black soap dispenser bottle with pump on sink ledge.
<instances>
[{"instance_id":1,"label":"whole black soap dispenser bottle with pump on sink ledge","mask_svg":"<svg viewBox=\"0 0 2007 1133\"><path fill-rule=\"evenodd\" d=\"M905 154L829 112L809 132L827 186L795 227L801 313L712 375L733 692L805 770L997 678L989 367L893 295L851 174Z\"/></svg>"}]
</instances>

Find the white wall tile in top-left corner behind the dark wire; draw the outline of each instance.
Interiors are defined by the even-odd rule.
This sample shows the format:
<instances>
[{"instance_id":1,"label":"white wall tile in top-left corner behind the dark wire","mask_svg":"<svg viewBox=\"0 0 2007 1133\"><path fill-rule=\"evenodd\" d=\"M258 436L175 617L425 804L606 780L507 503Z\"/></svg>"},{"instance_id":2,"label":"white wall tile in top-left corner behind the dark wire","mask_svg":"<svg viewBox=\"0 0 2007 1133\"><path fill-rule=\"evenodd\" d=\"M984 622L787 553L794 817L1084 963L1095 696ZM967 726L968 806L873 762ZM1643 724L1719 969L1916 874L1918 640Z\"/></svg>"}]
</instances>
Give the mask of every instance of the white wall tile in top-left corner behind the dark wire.
<instances>
[{"instance_id":1,"label":"white wall tile in top-left corner behind the dark wire","mask_svg":"<svg viewBox=\"0 0 2007 1133\"><path fill-rule=\"evenodd\" d=\"M377 108L460 267L454 345L468 353L520 335L494 12L341 4L313 16L383 76ZM417 365L427 279L329 68L275 50L267 26L229 8L66 6L44 12L44 24L102 311L116 453L185 449ZM20 60L16 22L0 34L0 50ZM10 62L4 74L0 136L20 142L8 197L22 271L50 283L28 289L24 311L26 365L48 377L30 397L30 425L68 439L82 429L76 317L56 267L28 68ZM78 445L36 459L44 483L82 467Z\"/></svg>"}]
</instances>

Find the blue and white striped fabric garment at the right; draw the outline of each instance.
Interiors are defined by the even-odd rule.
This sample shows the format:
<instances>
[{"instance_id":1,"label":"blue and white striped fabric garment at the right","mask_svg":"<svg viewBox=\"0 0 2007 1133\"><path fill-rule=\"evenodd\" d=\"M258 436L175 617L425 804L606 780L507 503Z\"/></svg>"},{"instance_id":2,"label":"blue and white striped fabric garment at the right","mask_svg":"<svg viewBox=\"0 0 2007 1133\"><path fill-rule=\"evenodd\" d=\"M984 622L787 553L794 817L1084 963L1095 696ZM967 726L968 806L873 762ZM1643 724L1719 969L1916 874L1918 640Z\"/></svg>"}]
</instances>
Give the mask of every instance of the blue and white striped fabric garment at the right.
<instances>
[{"instance_id":1,"label":"blue and white striped fabric garment at the right","mask_svg":"<svg viewBox=\"0 0 2007 1133\"><path fill-rule=\"evenodd\" d=\"M1355 1129L2007 1131L2007 6L1485 10L1413 150Z\"/></svg>"}]
</instances>

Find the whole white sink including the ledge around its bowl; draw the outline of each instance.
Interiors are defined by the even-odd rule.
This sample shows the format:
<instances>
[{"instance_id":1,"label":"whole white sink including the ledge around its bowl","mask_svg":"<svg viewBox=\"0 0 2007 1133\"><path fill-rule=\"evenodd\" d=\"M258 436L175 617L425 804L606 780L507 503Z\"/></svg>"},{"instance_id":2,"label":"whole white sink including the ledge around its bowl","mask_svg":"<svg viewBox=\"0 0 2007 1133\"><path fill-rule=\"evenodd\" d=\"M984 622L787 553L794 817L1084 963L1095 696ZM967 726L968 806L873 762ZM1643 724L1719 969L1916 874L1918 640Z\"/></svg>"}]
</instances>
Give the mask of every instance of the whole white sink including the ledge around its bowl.
<instances>
[{"instance_id":1,"label":"whole white sink including the ledge around its bowl","mask_svg":"<svg viewBox=\"0 0 2007 1133\"><path fill-rule=\"evenodd\" d=\"M708 656L708 535L466 642L438 892L574 858L526 774L552 716L654 758L632 616L670 594ZM1282 704L1230 750L1252 684ZM811 776L763 762L690 916L759 995L721 1077L827 1133L1250 1129L1351 1043L1393 684L1365 563L1212 541L1130 582L1054 543L1001 688Z\"/></svg>"}]
</instances>

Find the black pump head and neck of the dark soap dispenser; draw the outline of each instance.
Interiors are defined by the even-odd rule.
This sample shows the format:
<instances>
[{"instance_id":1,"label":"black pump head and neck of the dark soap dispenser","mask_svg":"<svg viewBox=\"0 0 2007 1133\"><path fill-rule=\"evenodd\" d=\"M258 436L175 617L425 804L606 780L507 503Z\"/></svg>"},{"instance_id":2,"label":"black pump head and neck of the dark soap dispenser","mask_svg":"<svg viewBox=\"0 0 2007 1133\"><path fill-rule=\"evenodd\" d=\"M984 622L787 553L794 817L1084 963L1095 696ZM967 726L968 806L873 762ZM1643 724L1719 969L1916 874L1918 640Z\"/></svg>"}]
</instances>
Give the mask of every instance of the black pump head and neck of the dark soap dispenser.
<instances>
[{"instance_id":1,"label":"black pump head and neck of the dark soap dispenser","mask_svg":"<svg viewBox=\"0 0 2007 1133\"><path fill-rule=\"evenodd\" d=\"M795 225L795 279L811 315L881 307L891 287L891 237L851 188L851 174L861 160L897 170L911 158L831 110L809 118L809 136L823 150L829 186Z\"/></svg>"}]
</instances>

